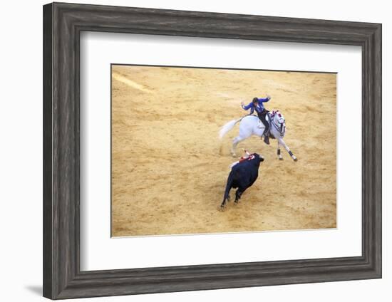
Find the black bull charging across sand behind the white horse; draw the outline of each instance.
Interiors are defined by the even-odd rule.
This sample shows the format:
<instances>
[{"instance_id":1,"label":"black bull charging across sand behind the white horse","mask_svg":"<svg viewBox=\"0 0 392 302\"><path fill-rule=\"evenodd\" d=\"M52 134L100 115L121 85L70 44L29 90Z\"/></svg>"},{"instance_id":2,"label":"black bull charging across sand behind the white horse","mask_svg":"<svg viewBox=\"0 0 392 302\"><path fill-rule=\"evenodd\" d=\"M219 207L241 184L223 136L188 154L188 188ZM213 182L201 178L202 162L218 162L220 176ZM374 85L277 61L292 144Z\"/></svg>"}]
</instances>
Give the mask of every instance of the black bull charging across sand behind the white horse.
<instances>
[{"instance_id":1,"label":"black bull charging across sand behind the white horse","mask_svg":"<svg viewBox=\"0 0 392 302\"><path fill-rule=\"evenodd\" d=\"M232 167L229 177L227 177L225 195L220 207L225 207L226 201L229 200L230 189L232 188L238 188L235 192L234 202L237 203L239 201L242 193L252 186L259 176L259 166L262 161L264 161L263 157L260 157L257 153L253 153L252 155L249 155L248 159L240 161L237 165Z\"/></svg>"}]
</instances>

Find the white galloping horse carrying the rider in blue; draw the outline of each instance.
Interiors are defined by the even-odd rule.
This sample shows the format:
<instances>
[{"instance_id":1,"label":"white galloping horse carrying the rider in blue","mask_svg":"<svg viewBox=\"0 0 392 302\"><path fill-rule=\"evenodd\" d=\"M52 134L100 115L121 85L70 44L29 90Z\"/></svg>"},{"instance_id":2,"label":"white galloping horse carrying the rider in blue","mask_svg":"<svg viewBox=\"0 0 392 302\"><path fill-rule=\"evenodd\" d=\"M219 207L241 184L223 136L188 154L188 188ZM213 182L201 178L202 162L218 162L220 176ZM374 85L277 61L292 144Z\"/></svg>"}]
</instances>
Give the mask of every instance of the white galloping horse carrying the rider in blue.
<instances>
[{"instance_id":1,"label":"white galloping horse carrying the rider in blue","mask_svg":"<svg viewBox=\"0 0 392 302\"><path fill-rule=\"evenodd\" d=\"M283 157L280 154L280 146L282 145L284 149L286 149L287 152L289 152L289 155L292 157L292 159L296 162L297 160L296 156L293 154L292 151L290 151L289 147L287 147L286 143L283 140L283 137L286 133L286 123L282 113L280 113L279 110L272 111L270 114L266 115L267 120L269 120L270 116L272 116L273 118L270 123L269 133L274 138L277 139L278 142L277 155L279 157L279 160L283 160ZM259 121L259 117L257 115L245 115L242 118L239 118L238 120L231 120L229 121L229 123L224 125L220 129L220 133L219 133L220 138L222 139L222 137L224 137L227 132L232 130L234 125L236 125L238 122L241 123L239 123L239 135L237 137L234 137L233 139L232 150L231 150L233 157L237 156L235 154L235 149L239 142L247 139L248 137L251 137L252 135L262 137L264 133L264 125Z\"/></svg>"}]
</instances>

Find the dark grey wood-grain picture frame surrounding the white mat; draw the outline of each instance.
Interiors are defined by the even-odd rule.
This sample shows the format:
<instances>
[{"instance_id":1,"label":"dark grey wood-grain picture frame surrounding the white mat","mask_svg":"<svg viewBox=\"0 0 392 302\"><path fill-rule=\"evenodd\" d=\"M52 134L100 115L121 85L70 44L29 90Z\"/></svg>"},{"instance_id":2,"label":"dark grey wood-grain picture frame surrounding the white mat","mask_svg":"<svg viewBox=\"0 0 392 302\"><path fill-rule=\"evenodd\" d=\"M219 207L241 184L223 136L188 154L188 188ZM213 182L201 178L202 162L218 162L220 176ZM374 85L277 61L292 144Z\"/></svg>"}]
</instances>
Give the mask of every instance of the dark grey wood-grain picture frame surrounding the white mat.
<instances>
[{"instance_id":1,"label":"dark grey wood-grain picture frame surrounding the white mat","mask_svg":"<svg viewBox=\"0 0 392 302\"><path fill-rule=\"evenodd\" d=\"M81 271L81 31L361 46L362 256ZM381 278L381 24L53 3L43 6L43 296L118 296Z\"/></svg>"}]
</instances>

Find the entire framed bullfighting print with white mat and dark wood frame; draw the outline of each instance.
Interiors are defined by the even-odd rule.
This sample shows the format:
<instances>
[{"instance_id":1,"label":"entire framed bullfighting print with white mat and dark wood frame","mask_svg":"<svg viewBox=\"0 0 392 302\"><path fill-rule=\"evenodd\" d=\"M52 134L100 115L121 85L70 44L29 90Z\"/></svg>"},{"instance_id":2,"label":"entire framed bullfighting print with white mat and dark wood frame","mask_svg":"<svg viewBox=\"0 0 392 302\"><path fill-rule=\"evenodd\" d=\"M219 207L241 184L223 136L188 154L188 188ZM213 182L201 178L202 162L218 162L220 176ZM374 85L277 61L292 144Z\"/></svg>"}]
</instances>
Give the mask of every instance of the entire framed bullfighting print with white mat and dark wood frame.
<instances>
[{"instance_id":1,"label":"entire framed bullfighting print with white mat and dark wood frame","mask_svg":"<svg viewBox=\"0 0 392 302\"><path fill-rule=\"evenodd\" d=\"M381 24L43 6L43 295L381 278Z\"/></svg>"}]
</instances>

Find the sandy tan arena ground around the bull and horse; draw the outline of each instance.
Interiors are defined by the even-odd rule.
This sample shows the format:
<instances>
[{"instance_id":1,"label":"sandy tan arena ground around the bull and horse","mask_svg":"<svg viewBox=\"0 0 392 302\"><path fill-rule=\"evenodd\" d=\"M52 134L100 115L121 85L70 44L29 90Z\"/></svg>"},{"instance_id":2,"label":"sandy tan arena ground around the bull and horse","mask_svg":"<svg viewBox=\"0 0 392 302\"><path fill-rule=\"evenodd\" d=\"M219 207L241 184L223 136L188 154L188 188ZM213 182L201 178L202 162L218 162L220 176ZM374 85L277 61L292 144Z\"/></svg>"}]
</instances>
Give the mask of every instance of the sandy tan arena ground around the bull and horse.
<instances>
[{"instance_id":1,"label":"sandy tan arena ground around the bull and horse","mask_svg":"<svg viewBox=\"0 0 392 302\"><path fill-rule=\"evenodd\" d=\"M258 137L259 178L219 210L229 153L254 96L286 118L286 150ZM234 197L232 191L232 197ZM112 235L197 234L336 227L336 75L112 66Z\"/></svg>"}]
</instances>

